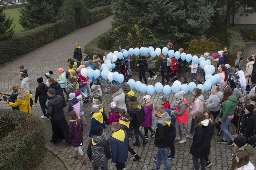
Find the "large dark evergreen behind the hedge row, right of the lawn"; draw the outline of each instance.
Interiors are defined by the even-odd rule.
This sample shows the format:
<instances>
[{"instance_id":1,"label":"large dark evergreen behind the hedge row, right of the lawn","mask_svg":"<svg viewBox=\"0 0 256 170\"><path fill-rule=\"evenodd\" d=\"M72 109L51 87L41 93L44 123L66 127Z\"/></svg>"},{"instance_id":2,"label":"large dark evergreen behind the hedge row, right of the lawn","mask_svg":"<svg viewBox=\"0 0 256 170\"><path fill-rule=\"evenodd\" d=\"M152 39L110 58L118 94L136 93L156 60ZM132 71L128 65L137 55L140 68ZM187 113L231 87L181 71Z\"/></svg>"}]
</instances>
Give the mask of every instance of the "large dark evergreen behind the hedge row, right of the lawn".
<instances>
[{"instance_id":1,"label":"large dark evergreen behind the hedge row, right of the lawn","mask_svg":"<svg viewBox=\"0 0 256 170\"><path fill-rule=\"evenodd\" d=\"M19 23L25 30L42 26L46 23L56 21L55 11L50 1L27 0L23 8L20 9Z\"/></svg>"}]
</instances>

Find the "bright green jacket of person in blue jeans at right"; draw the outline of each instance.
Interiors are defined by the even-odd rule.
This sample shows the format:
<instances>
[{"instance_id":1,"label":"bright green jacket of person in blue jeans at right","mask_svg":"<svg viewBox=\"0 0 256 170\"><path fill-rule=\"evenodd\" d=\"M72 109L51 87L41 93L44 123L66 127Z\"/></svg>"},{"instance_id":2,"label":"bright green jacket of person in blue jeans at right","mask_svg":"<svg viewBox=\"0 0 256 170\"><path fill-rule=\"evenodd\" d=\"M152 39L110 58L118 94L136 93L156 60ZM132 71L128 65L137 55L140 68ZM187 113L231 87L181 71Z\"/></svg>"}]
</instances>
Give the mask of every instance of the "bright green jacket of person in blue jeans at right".
<instances>
[{"instance_id":1,"label":"bright green jacket of person in blue jeans at right","mask_svg":"<svg viewBox=\"0 0 256 170\"><path fill-rule=\"evenodd\" d=\"M227 118L227 116L232 116L234 114L235 108L236 108L236 102L237 97L233 94L230 98L225 100L222 104L222 113L223 116L221 118L221 121L224 122Z\"/></svg>"}]
</instances>

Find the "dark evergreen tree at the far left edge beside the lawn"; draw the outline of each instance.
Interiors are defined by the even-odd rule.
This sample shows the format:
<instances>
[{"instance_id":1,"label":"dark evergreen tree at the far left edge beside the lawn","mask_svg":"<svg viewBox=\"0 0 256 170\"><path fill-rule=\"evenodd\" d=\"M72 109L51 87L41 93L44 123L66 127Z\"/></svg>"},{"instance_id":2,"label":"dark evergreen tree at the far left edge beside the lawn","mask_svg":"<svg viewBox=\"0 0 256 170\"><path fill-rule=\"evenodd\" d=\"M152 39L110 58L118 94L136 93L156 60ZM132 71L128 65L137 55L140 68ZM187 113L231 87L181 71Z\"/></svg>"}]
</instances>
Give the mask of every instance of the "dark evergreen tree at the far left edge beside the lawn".
<instances>
[{"instance_id":1,"label":"dark evergreen tree at the far left edge beside the lawn","mask_svg":"<svg viewBox=\"0 0 256 170\"><path fill-rule=\"evenodd\" d=\"M13 18L6 18L6 14L3 12L4 7L0 7L0 41L11 38L14 35L14 27L11 28Z\"/></svg>"}]
</instances>

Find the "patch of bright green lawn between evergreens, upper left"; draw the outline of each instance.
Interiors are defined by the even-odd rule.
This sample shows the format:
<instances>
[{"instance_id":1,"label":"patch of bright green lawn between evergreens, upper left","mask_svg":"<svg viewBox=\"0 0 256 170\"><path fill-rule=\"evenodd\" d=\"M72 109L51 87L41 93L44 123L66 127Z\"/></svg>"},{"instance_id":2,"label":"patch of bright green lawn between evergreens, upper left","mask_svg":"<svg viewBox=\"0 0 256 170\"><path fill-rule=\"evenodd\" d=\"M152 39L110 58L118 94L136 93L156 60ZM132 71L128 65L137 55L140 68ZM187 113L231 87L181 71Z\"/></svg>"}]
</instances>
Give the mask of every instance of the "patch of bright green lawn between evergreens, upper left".
<instances>
[{"instance_id":1,"label":"patch of bright green lawn between evergreens, upper left","mask_svg":"<svg viewBox=\"0 0 256 170\"><path fill-rule=\"evenodd\" d=\"M15 34L21 33L22 30L24 30L23 27L19 24L19 9L20 8L4 10L4 13L7 14L7 17L10 15L11 18L14 18L12 26L16 24L14 28Z\"/></svg>"}]
</instances>

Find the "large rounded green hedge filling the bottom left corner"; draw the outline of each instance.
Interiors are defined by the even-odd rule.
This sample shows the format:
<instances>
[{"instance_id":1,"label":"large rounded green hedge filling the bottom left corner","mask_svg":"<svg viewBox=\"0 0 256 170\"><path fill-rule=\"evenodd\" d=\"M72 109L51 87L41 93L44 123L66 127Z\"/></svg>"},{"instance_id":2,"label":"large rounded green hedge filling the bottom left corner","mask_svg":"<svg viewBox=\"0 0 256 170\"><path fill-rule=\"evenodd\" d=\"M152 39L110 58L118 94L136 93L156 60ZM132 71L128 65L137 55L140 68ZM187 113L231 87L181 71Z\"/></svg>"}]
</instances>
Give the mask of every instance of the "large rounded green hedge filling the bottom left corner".
<instances>
[{"instance_id":1,"label":"large rounded green hedge filling the bottom left corner","mask_svg":"<svg viewBox=\"0 0 256 170\"><path fill-rule=\"evenodd\" d=\"M45 127L28 113L0 109L0 169L34 169L43 160Z\"/></svg>"}]
</instances>

